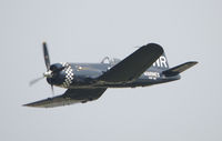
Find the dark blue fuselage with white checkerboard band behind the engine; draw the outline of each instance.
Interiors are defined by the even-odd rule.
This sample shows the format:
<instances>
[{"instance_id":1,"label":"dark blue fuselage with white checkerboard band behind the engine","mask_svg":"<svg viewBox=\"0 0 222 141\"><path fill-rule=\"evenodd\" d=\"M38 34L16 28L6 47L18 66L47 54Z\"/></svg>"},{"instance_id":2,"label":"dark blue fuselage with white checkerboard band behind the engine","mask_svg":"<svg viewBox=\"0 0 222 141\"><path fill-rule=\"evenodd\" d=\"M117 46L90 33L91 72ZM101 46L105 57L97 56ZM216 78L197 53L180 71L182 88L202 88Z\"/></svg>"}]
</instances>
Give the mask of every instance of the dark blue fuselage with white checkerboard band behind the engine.
<instances>
[{"instance_id":1,"label":"dark blue fuselage with white checkerboard band behind the engine","mask_svg":"<svg viewBox=\"0 0 222 141\"><path fill-rule=\"evenodd\" d=\"M115 64L117 63L56 63L52 64L52 67L62 66L64 67L64 69L60 71L53 80L48 79L48 82L65 89L134 88L148 87L180 79L179 74L174 77L165 77L162 71L168 68L164 68L164 66L160 64L153 64L138 79L129 82L107 83L97 80L97 78L102 75L105 71L108 71Z\"/></svg>"}]
</instances>

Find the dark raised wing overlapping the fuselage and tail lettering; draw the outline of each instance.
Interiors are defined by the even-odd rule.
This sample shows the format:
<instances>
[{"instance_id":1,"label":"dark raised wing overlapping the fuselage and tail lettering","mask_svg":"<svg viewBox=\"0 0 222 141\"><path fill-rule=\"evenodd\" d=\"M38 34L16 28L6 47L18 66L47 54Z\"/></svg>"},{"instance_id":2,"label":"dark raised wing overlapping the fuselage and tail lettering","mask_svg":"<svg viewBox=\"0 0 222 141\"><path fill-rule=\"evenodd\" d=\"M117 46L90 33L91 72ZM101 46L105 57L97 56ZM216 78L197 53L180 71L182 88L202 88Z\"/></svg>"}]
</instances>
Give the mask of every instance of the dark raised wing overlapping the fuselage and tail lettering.
<instances>
[{"instance_id":1,"label":"dark raised wing overlapping the fuselage and tail lettering","mask_svg":"<svg viewBox=\"0 0 222 141\"><path fill-rule=\"evenodd\" d=\"M162 47L150 43L141 47L124 60L99 77L105 82L128 82L139 78L163 53Z\"/></svg>"}]
</instances>

